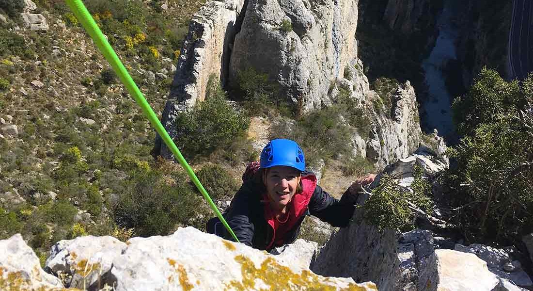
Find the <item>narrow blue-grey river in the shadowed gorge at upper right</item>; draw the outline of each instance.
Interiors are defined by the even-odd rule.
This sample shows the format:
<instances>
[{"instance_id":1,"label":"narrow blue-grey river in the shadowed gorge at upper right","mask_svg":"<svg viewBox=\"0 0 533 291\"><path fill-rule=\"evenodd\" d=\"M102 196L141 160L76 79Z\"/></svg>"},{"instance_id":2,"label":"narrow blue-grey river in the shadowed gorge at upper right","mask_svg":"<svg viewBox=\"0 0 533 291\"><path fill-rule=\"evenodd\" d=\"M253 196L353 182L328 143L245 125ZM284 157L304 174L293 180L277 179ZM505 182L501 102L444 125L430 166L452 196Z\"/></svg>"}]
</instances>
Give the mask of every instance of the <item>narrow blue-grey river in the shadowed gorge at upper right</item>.
<instances>
[{"instance_id":1,"label":"narrow blue-grey river in the shadowed gorge at upper right","mask_svg":"<svg viewBox=\"0 0 533 291\"><path fill-rule=\"evenodd\" d=\"M439 136L446 140L456 139L455 125L452 121L450 109L453 96L450 95L445 84L443 70L447 61L457 59L456 41L459 37L457 15L461 9L461 1L445 0L441 14L437 18L439 36L429 57L422 61L427 98L422 104L426 115L424 124L427 131L437 129Z\"/></svg>"}]
</instances>

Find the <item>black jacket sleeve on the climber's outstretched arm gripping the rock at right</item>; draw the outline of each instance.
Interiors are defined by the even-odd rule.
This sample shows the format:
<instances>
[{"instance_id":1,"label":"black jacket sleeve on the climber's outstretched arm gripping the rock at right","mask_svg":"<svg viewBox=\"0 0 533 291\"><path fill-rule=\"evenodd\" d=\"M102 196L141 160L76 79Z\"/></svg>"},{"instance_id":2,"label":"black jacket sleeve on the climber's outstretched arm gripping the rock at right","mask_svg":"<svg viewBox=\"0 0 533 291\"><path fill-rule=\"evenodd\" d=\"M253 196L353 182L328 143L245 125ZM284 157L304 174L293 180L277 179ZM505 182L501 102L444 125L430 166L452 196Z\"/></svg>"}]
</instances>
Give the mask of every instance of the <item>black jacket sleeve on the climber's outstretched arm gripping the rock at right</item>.
<instances>
[{"instance_id":1,"label":"black jacket sleeve on the climber's outstretched arm gripping the rock at right","mask_svg":"<svg viewBox=\"0 0 533 291\"><path fill-rule=\"evenodd\" d=\"M356 201L348 190L339 201L317 185L309 201L309 213L333 226L346 227L356 209Z\"/></svg>"}]
</instances>

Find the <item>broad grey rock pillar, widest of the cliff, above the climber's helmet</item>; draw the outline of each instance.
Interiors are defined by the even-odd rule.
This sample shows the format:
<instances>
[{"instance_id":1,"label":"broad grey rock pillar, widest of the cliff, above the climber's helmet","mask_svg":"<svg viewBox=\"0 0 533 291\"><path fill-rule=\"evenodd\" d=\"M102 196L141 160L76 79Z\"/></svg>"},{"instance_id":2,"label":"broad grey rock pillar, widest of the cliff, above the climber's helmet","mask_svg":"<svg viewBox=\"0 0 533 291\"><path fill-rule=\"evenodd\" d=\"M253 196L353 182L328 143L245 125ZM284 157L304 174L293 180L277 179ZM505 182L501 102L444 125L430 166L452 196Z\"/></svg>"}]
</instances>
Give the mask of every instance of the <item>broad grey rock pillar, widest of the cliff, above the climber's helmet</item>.
<instances>
[{"instance_id":1,"label":"broad grey rock pillar, widest of the cliff, above the climber's helmet","mask_svg":"<svg viewBox=\"0 0 533 291\"><path fill-rule=\"evenodd\" d=\"M331 85L357 57L357 4L250 0L233 45L230 85L253 68L303 111L329 104Z\"/></svg>"}]
</instances>

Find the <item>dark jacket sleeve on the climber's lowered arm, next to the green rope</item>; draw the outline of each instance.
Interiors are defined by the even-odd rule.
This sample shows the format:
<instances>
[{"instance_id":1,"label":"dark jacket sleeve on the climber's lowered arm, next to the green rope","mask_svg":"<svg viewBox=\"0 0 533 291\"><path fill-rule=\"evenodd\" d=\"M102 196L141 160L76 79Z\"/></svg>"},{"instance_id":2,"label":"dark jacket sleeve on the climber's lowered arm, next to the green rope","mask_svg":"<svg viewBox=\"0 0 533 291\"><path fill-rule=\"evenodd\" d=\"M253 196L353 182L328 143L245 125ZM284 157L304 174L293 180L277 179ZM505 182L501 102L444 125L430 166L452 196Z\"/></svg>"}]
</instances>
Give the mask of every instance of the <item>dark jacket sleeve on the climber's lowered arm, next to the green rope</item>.
<instances>
[{"instance_id":1,"label":"dark jacket sleeve on the climber's lowered arm, next to the green rope","mask_svg":"<svg viewBox=\"0 0 533 291\"><path fill-rule=\"evenodd\" d=\"M237 239L239 239L239 242L247 246L252 246L255 229L252 222L253 210L251 209L251 196L249 195L251 185L249 184L246 182L243 183L239 191L237 191L224 218L233 230L233 233L235 233ZM233 240L227 230L224 230L224 238Z\"/></svg>"}]
</instances>

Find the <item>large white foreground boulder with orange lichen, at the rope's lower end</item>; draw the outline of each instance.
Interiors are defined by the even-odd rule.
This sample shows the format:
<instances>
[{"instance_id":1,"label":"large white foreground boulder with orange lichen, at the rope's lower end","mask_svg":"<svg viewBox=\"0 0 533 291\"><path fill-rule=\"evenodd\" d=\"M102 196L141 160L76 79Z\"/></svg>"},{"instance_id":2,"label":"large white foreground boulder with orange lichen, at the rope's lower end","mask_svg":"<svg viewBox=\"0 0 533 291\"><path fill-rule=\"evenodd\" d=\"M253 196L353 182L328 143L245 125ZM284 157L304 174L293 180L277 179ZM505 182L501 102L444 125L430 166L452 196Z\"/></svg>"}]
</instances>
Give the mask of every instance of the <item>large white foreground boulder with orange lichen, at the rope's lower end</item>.
<instances>
[{"instance_id":1,"label":"large white foreground boulder with orange lichen, at the rope's lower end","mask_svg":"<svg viewBox=\"0 0 533 291\"><path fill-rule=\"evenodd\" d=\"M166 237L133 238L113 261L116 291L136 290L377 290L351 278L324 278L276 256L192 227ZM359 288L358 288L359 290Z\"/></svg>"}]
</instances>

